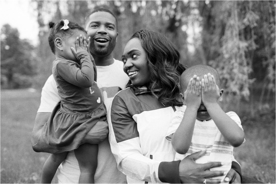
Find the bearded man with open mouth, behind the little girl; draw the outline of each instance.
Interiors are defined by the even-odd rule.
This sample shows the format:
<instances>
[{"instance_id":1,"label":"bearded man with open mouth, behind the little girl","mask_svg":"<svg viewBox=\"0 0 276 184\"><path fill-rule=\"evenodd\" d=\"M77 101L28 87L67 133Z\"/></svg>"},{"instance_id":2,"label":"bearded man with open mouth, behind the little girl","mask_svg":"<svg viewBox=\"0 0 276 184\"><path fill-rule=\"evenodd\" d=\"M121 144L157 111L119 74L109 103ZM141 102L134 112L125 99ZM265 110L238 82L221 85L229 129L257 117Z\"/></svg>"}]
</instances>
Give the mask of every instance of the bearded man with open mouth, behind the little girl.
<instances>
[{"instance_id":1,"label":"bearded man with open mouth, behind the little girl","mask_svg":"<svg viewBox=\"0 0 276 184\"><path fill-rule=\"evenodd\" d=\"M90 52L97 67L97 84L102 91L104 103L109 108L115 94L124 89L129 80L123 72L123 62L112 57L118 35L116 17L107 9L97 8L86 18L86 31L87 36L91 37ZM59 100L57 86L51 75L42 89L41 104L32 133L33 143L37 141L39 130ZM74 151L70 151L57 170L58 183L78 183L79 174L78 161ZM99 144L95 183L126 183L126 176L117 169L108 138Z\"/></svg>"}]
</instances>

